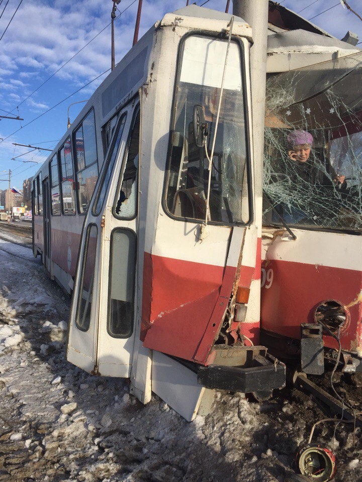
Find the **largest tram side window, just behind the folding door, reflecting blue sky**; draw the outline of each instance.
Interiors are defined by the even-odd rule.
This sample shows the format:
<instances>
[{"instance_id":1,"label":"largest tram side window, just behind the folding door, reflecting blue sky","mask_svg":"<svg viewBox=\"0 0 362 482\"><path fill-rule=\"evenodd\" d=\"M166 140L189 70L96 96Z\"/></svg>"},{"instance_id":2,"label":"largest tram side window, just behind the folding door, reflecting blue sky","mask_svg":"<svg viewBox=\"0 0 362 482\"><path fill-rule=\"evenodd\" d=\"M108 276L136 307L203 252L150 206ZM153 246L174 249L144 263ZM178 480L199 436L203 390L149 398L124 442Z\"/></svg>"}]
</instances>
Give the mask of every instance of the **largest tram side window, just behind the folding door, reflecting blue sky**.
<instances>
[{"instance_id":1,"label":"largest tram side window, just behind the folding door, reflecting blue sky","mask_svg":"<svg viewBox=\"0 0 362 482\"><path fill-rule=\"evenodd\" d=\"M93 110L75 131L74 144L79 213L85 213L98 179L96 125Z\"/></svg>"}]
</instances>

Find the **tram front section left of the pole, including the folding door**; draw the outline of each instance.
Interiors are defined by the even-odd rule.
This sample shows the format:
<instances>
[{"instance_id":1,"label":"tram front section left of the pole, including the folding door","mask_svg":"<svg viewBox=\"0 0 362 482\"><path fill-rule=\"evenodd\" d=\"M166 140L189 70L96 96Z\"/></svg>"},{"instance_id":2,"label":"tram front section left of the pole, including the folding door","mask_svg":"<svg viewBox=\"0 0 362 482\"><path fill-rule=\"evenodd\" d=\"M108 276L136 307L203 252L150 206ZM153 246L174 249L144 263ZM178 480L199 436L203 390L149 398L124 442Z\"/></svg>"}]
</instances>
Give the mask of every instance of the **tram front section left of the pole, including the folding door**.
<instances>
[{"instance_id":1,"label":"tram front section left of the pole, including the folding door","mask_svg":"<svg viewBox=\"0 0 362 482\"><path fill-rule=\"evenodd\" d=\"M188 420L206 389L285 381L248 300L251 29L209 12L167 14L94 94L118 121L83 226L68 343L72 363L130 376L142 402L152 390Z\"/></svg>"}]
</instances>

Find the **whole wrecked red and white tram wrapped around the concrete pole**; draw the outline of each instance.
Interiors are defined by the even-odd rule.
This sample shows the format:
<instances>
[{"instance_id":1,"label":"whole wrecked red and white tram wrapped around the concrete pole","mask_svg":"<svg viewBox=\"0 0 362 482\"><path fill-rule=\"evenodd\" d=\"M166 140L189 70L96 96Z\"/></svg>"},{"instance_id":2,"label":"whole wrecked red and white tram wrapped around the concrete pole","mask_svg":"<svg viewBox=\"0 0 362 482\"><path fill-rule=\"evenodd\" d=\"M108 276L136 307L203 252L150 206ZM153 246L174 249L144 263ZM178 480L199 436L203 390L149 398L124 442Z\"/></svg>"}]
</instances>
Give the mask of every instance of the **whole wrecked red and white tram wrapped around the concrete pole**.
<instances>
[{"instance_id":1,"label":"whole wrecked red and white tram wrapped around the concrete pole","mask_svg":"<svg viewBox=\"0 0 362 482\"><path fill-rule=\"evenodd\" d=\"M269 8L274 24L280 11ZM252 31L227 14L189 6L155 24L95 91L34 181L34 254L72 292L68 360L98 375L129 377L143 403L153 391L189 420L210 389L284 386L284 365L259 345L260 274L265 343L278 355L292 346L300 356L301 324L323 321L340 336L346 364L359 366L360 212L352 229L335 217L331 226L319 222L325 209L306 209L309 218L299 219L310 192L297 189L293 200L295 177L281 168L289 152L283 136L301 129L314 136L312 151L324 166L338 170L339 154L350 159L332 144L343 137L340 124L349 139L357 103L343 98L343 123L327 116L323 124L314 112L306 118L308 96L293 95L304 86L313 98L330 99L333 81L327 94L318 81L326 72L339 80L352 72L336 59L358 49L303 22L295 32L282 21L269 25L267 89L276 89L279 101L267 106L263 243L261 169L250 142ZM358 206L357 165L342 205L331 204L347 220L348 196ZM346 255L338 262L336 247ZM309 356L320 344L308 333ZM332 337L324 342L338 346Z\"/></svg>"}]
</instances>

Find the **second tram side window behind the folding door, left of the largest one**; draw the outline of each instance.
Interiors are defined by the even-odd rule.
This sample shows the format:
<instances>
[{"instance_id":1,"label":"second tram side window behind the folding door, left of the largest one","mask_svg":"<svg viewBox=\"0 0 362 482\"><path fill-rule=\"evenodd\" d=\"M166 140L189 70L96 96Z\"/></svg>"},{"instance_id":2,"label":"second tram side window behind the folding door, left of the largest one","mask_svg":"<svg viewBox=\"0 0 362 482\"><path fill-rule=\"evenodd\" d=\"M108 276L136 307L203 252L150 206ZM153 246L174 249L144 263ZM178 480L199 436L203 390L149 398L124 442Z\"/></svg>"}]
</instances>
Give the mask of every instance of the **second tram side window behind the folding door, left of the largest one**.
<instances>
[{"instance_id":1,"label":"second tram side window behind the folding door, left of the largest one","mask_svg":"<svg viewBox=\"0 0 362 482\"><path fill-rule=\"evenodd\" d=\"M59 151L61 172L61 194L63 201L63 214L75 214L75 183L73 162L71 155L70 137L65 141Z\"/></svg>"}]
</instances>

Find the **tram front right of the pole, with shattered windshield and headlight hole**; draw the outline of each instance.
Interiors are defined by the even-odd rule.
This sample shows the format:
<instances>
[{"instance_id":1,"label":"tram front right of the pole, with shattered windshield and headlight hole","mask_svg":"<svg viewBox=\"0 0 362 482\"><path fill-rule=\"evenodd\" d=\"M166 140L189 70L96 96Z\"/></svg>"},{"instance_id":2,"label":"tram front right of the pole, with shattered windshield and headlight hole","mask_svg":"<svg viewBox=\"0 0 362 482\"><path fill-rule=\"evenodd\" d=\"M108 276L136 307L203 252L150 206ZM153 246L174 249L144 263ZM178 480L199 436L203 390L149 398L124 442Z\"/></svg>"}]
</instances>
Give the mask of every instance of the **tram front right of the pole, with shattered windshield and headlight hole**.
<instances>
[{"instance_id":1,"label":"tram front right of the pole, with shattered windshield and headlight hole","mask_svg":"<svg viewBox=\"0 0 362 482\"><path fill-rule=\"evenodd\" d=\"M342 370L362 371L362 53L340 48L323 39L321 61L316 48L266 87L261 340L302 367L314 357L315 375L339 346Z\"/></svg>"}]
</instances>

